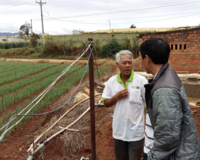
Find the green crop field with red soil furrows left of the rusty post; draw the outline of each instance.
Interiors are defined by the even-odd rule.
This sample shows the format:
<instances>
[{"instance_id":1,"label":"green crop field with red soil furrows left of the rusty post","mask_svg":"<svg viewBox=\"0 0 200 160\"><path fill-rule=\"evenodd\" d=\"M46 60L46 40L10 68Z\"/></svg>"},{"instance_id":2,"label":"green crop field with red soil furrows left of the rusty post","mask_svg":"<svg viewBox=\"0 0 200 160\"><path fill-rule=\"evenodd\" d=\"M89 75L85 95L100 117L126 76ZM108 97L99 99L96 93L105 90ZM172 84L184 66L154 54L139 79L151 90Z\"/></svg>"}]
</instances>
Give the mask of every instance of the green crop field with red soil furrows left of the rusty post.
<instances>
[{"instance_id":1,"label":"green crop field with red soil furrows left of the rusty post","mask_svg":"<svg viewBox=\"0 0 200 160\"><path fill-rule=\"evenodd\" d=\"M6 62L5 62L6 63ZM15 62L14 62L15 63ZM8 66L15 66L16 68L21 69L21 72L27 71L22 68L26 68L25 63L17 63L19 66L13 65L12 62L9 62ZM28 64L30 65L30 63ZM33 65L33 64L31 64ZM35 65L35 64L34 64ZM37 67L36 67L37 66ZM19 111L21 111L29 102L34 99L44 88L46 88L58 74L66 68L68 65L55 65L55 64L37 64L34 66L34 72L28 71L29 73L35 73L34 75L31 74L23 74L21 79L9 84L2 84L0 88L0 128L5 126L9 118ZM4 64L6 68L6 64ZM12 67L8 67L10 69ZM35 71L36 68L38 69L37 72ZM42 68L42 69L41 69ZM47 70L48 68L48 70ZM103 74L111 67L101 67L99 69L98 74ZM33 70L30 67L30 70ZM6 69L4 69L7 72ZM10 69L12 71L12 69ZM16 72L17 74L21 72ZM74 65L68 70L61 79L54 85L54 87L46 94L46 96L38 103L29 114L39 113L41 109L47 108L52 102L54 102L57 98L59 98L63 93L67 92L72 86L77 84L82 76L83 73L88 74L89 70L85 70L85 67L82 65ZM0 74L5 74L3 71ZM95 73L95 77L98 77L97 72ZM25 78L24 78L25 77ZM85 81L86 79L84 79ZM67 101L67 100L66 100ZM57 106L59 107L59 106ZM25 114L30 108L27 108L21 114ZM23 117L17 117L10 123L10 126L14 125L17 121L19 121ZM24 117L23 121L17 126L12 127L11 130L6 134L9 137L10 133L21 126L23 122L27 122L31 117ZM4 132L4 129L1 130L1 134Z\"/></svg>"}]
</instances>

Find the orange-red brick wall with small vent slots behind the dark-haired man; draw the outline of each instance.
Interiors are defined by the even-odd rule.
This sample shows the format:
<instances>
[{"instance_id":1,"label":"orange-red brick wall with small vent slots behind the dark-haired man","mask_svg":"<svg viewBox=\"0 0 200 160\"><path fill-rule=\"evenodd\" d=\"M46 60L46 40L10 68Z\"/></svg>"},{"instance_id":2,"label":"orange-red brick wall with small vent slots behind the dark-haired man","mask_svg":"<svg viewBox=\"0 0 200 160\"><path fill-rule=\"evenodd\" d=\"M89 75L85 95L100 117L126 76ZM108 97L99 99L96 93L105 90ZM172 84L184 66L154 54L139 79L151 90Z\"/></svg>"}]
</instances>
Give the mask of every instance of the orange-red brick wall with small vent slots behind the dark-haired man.
<instances>
[{"instance_id":1,"label":"orange-red brick wall with small vent slots behind the dark-haired man","mask_svg":"<svg viewBox=\"0 0 200 160\"><path fill-rule=\"evenodd\" d=\"M171 48L169 64L175 71L200 71L200 29L141 34L139 37L140 44L151 37L165 39Z\"/></svg>"}]
</instances>

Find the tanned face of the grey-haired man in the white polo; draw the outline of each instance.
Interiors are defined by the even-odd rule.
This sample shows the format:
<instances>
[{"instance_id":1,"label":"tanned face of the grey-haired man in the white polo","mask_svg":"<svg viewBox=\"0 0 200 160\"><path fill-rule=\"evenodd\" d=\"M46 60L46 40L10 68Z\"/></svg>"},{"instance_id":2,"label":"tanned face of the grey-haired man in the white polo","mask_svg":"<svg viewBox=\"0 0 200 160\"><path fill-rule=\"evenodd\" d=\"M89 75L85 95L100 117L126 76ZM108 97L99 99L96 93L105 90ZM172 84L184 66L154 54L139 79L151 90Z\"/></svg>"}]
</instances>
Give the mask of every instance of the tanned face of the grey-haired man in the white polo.
<instances>
[{"instance_id":1,"label":"tanned face of the grey-haired man in the white polo","mask_svg":"<svg viewBox=\"0 0 200 160\"><path fill-rule=\"evenodd\" d=\"M130 75L133 68L133 59L126 55L121 55L120 62L116 62L121 74Z\"/></svg>"}]
</instances>

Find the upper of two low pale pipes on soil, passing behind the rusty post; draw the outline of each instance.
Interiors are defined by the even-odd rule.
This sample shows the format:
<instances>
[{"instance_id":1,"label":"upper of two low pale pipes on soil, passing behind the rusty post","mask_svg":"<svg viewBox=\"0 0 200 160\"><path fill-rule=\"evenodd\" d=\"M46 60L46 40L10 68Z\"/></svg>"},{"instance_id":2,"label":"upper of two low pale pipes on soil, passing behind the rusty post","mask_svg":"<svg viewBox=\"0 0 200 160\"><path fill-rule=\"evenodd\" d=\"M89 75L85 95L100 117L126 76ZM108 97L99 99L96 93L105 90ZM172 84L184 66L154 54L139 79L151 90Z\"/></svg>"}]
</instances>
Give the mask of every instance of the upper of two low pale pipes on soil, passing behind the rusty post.
<instances>
[{"instance_id":1,"label":"upper of two low pale pipes on soil, passing behind the rusty post","mask_svg":"<svg viewBox=\"0 0 200 160\"><path fill-rule=\"evenodd\" d=\"M101 95L96 94L96 96ZM72 111L75 107L77 107L79 104L85 102L86 100L90 99L90 97L85 98L84 100L80 101L79 103L75 104L73 107L71 107L69 110L67 110L54 124L52 124L47 130L45 130L37 139L35 139L34 144L37 143L39 141L39 139L44 136L45 133L47 133L51 128L53 128L62 118L64 118L70 111ZM29 152L30 150L32 150L33 147L33 143L31 144L31 146L29 147L29 149L27 150L27 152Z\"/></svg>"}]
</instances>

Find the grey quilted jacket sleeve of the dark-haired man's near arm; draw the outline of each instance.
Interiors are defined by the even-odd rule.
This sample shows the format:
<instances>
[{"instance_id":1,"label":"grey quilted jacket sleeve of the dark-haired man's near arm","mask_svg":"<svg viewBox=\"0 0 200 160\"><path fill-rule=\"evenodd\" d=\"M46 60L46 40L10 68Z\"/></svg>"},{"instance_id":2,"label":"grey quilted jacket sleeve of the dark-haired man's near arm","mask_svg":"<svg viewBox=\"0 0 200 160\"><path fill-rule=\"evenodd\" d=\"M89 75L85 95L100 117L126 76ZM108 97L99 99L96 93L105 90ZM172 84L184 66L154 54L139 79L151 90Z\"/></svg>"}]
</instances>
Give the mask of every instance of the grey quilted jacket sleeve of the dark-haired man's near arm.
<instances>
[{"instance_id":1,"label":"grey quilted jacket sleeve of the dark-haired man's near arm","mask_svg":"<svg viewBox=\"0 0 200 160\"><path fill-rule=\"evenodd\" d=\"M161 88L153 94L154 144L148 160L166 160L180 143L183 118L178 91Z\"/></svg>"}]
</instances>

